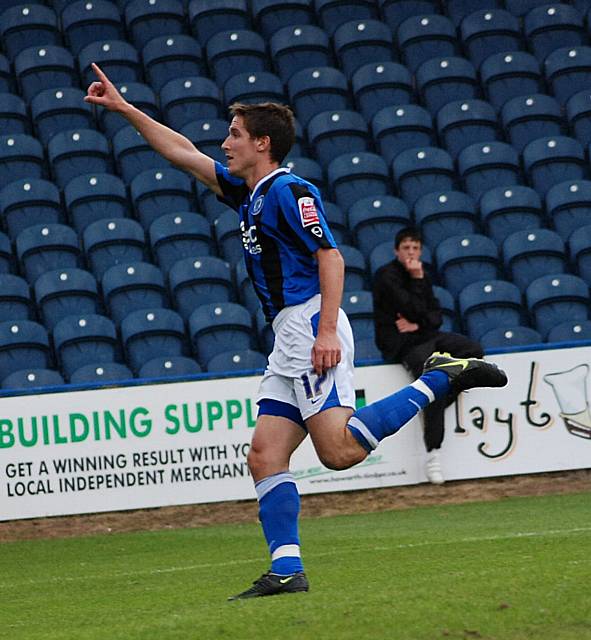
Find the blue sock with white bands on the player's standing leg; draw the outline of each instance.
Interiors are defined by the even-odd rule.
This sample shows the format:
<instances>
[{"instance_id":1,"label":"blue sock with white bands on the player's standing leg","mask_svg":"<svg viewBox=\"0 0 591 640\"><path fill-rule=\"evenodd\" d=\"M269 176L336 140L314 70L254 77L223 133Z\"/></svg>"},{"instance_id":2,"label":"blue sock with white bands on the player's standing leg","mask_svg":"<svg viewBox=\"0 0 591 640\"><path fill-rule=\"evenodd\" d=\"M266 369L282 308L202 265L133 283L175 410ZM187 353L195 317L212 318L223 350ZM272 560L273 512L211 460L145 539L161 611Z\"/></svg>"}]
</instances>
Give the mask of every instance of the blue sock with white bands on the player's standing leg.
<instances>
[{"instance_id":1,"label":"blue sock with white bands on the player's standing leg","mask_svg":"<svg viewBox=\"0 0 591 640\"><path fill-rule=\"evenodd\" d=\"M293 476L287 471L276 473L259 480L255 489L259 519L271 553L271 573L287 576L303 571L298 533L300 495Z\"/></svg>"}]
</instances>

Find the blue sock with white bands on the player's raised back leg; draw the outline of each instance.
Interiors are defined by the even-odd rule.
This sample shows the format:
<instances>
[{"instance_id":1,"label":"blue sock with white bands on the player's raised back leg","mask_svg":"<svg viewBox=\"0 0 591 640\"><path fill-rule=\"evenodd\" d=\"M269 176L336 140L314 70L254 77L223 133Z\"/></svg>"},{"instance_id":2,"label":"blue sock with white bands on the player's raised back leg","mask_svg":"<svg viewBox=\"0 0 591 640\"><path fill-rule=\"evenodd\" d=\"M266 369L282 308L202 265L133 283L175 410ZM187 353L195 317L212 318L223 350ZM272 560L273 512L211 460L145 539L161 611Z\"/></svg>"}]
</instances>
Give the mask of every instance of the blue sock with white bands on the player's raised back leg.
<instances>
[{"instance_id":1,"label":"blue sock with white bands on the player's raised back leg","mask_svg":"<svg viewBox=\"0 0 591 640\"><path fill-rule=\"evenodd\" d=\"M448 391L447 374L429 371L391 396L356 411L347 427L367 452L373 451L381 440L396 433L421 409Z\"/></svg>"}]
</instances>

